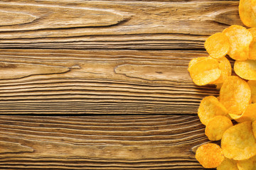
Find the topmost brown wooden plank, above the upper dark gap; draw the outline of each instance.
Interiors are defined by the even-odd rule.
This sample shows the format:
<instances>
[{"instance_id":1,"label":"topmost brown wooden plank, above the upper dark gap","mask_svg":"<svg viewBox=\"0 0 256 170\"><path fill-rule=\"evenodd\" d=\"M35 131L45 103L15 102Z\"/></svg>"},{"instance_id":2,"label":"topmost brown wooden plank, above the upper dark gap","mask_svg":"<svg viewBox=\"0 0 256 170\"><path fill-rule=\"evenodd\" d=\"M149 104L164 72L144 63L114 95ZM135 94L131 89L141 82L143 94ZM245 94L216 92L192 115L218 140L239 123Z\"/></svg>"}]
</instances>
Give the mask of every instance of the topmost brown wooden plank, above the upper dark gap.
<instances>
[{"instance_id":1,"label":"topmost brown wooden plank, above the upper dark gap","mask_svg":"<svg viewBox=\"0 0 256 170\"><path fill-rule=\"evenodd\" d=\"M0 1L1 48L203 49L238 1ZM12 19L10 19L12 18Z\"/></svg>"}]
</instances>

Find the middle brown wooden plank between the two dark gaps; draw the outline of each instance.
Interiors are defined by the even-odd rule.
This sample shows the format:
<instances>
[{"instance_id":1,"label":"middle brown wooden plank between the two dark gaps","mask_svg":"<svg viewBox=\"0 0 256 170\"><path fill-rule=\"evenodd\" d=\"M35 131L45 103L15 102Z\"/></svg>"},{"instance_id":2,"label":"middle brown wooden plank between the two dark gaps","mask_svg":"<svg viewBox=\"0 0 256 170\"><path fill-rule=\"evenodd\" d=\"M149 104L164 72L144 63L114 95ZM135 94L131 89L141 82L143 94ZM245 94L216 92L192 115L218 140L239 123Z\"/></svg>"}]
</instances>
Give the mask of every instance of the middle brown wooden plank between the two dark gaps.
<instances>
[{"instance_id":1,"label":"middle brown wooden plank between the two dark gaps","mask_svg":"<svg viewBox=\"0 0 256 170\"><path fill-rule=\"evenodd\" d=\"M201 51L0 50L0 114L196 114Z\"/></svg>"}]
</instances>

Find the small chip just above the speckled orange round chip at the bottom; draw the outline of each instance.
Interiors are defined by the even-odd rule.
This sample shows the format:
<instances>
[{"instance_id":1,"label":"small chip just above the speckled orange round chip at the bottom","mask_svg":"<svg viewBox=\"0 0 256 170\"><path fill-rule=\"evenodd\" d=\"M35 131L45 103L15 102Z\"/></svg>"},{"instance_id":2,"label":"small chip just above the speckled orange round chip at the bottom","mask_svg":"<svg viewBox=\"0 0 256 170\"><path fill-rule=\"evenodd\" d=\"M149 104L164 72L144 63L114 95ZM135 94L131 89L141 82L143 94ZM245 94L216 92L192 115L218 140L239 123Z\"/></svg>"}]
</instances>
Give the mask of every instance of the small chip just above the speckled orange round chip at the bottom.
<instances>
[{"instance_id":1,"label":"small chip just above the speckled orange round chip at the bottom","mask_svg":"<svg viewBox=\"0 0 256 170\"><path fill-rule=\"evenodd\" d=\"M225 115L217 115L206 125L206 136L209 140L221 140L223 133L232 126L233 123Z\"/></svg>"}]
</instances>

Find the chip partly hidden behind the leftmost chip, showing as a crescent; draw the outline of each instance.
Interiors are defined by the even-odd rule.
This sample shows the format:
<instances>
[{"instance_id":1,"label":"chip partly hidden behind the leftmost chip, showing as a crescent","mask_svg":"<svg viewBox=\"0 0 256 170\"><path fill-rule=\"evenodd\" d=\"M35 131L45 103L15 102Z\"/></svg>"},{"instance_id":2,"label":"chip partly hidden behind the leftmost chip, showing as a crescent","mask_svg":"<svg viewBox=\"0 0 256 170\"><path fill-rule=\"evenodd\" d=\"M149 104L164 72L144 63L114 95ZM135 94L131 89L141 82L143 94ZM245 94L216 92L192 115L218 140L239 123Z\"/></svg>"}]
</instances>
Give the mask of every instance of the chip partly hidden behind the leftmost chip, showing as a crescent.
<instances>
[{"instance_id":1,"label":"chip partly hidden behind the leftmost chip, showing as a crescent","mask_svg":"<svg viewBox=\"0 0 256 170\"><path fill-rule=\"evenodd\" d=\"M211 84L217 84L218 86L221 86L224 80L231 76L232 67L229 60L226 57L217 59L217 61L219 63L218 67L221 71L220 78L218 78L216 81L213 81Z\"/></svg>"}]
</instances>

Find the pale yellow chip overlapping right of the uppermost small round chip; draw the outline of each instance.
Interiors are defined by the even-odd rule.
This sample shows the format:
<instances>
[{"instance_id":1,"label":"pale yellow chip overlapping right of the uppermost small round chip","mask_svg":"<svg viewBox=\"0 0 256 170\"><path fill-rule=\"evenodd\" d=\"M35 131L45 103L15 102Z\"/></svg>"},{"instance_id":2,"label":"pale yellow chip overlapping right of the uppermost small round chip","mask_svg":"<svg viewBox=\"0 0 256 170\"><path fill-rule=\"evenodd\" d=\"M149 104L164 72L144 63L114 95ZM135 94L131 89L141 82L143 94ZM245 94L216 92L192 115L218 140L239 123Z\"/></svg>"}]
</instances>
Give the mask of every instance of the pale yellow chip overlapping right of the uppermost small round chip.
<instances>
[{"instance_id":1,"label":"pale yellow chip overlapping right of the uppermost small round chip","mask_svg":"<svg viewBox=\"0 0 256 170\"><path fill-rule=\"evenodd\" d=\"M242 26L233 25L223 30L230 42L228 55L234 60L244 61L249 57L249 45L252 34Z\"/></svg>"}]
</instances>

